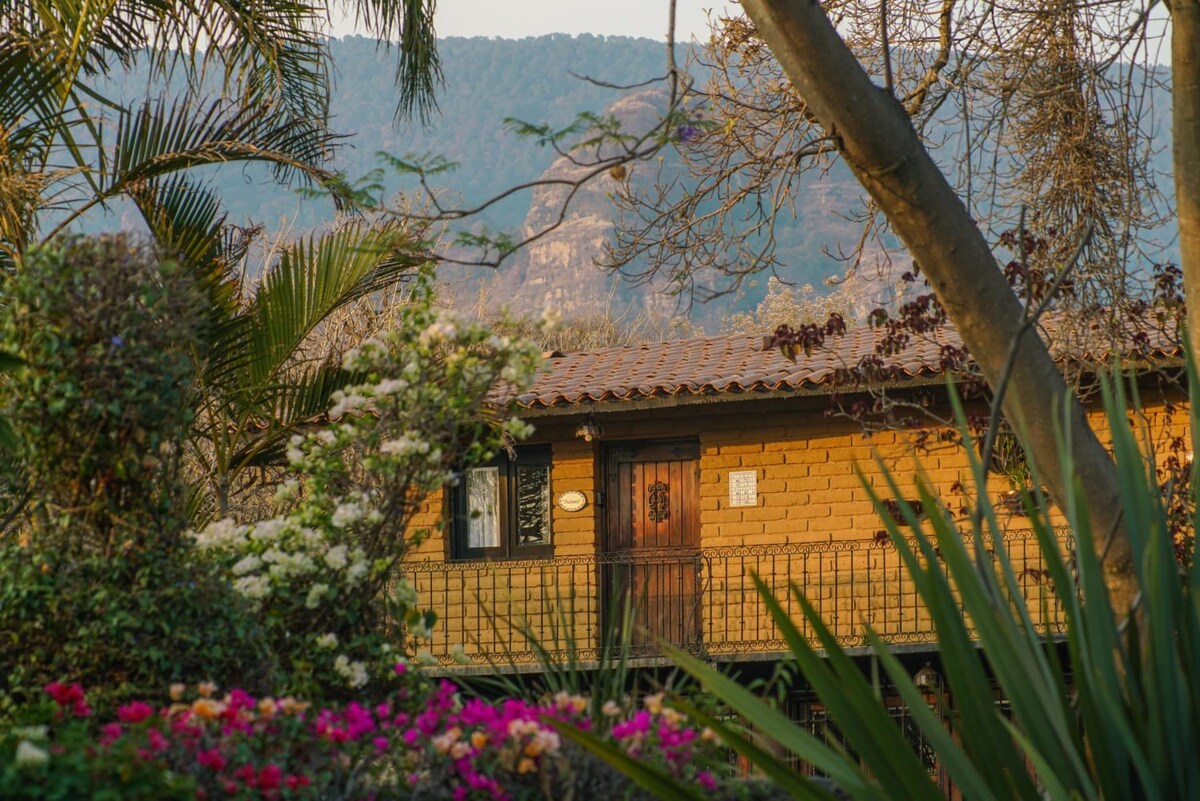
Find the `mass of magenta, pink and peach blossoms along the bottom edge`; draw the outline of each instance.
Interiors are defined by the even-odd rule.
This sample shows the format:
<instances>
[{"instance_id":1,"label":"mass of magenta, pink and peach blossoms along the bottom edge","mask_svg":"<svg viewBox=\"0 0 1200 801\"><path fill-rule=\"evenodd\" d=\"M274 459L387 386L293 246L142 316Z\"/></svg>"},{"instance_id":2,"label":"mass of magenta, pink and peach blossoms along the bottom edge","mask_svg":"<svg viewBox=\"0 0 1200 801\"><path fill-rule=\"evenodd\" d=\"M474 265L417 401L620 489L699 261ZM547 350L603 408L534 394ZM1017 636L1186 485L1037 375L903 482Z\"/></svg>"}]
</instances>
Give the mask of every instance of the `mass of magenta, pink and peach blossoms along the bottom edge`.
<instances>
[{"instance_id":1,"label":"mass of magenta, pink and peach blossoms along the bottom edge","mask_svg":"<svg viewBox=\"0 0 1200 801\"><path fill-rule=\"evenodd\" d=\"M400 681L416 681L397 670ZM398 687L382 703L311 709L294 698L254 698L232 689L217 698L204 682L193 693L176 685L160 709L132 701L100 727L96 759L125 757L161 765L194 782L198 799L317 799L330 785L404 782L445 788L455 801L541 797L546 787L572 781L557 725L595 730L608 743L656 764L706 791L719 783L703 770L706 747L716 739L661 695L628 709L608 701L592 719L590 700L565 692L542 703L462 698L450 682ZM53 683L46 692L58 715L91 713L79 685ZM83 722L80 721L80 725ZM92 751L92 748L89 748ZM332 783L332 784L331 784ZM377 787L382 787L377 784ZM347 784L348 785L348 784ZM386 795L386 794L385 794ZM366 789L364 797L370 797Z\"/></svg>"}]
</instances>

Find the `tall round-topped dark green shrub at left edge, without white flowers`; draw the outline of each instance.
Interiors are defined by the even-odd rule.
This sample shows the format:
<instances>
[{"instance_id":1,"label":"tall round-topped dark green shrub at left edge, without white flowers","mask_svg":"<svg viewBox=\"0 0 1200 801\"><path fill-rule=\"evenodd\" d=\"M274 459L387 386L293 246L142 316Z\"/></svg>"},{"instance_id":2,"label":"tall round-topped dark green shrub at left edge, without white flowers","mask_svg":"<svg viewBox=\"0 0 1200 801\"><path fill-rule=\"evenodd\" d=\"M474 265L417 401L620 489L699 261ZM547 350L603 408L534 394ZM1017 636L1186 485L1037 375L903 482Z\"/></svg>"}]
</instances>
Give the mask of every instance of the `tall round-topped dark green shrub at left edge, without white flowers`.
<instances>
[{"instance_id":1,"label":"tall round-topped dark green shrub at left edge, without white flowers","mask_svg":"<svg viewBox=\"0 0 1200 801\"><path fill-rule=\"evenodd\" d=\"M72 239L4 276L0 704L55 680L113 699L222 675L260 686L253 618L200 558L180 470L203 308L128 236ZM2 713L2 710L0 710Z\"/></svg>"}]
</instances>

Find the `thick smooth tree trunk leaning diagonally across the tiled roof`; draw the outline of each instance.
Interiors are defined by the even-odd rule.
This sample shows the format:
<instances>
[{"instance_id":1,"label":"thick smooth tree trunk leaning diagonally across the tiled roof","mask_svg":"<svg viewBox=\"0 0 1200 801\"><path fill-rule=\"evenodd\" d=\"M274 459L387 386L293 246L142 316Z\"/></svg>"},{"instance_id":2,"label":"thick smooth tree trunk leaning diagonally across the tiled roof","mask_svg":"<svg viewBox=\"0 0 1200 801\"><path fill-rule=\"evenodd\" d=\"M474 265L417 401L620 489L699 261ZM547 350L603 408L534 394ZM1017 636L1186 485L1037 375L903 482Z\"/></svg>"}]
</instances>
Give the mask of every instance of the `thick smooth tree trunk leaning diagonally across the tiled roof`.
<instances>
[{"instance_id":1,"label":"thick smooth tree trunk leaning diagonally across the tiled roof","mask_svg":"<svg viewBox=\"0 0 1200 801\"><path fill-rule=\"evenodd\" d=\"M978 225L950 187L895 97L871 83L816 0L742 0L808 110L887 215L929 279L988 383L996 387L1024 309ZM1193 195L1194 199L1195 195ZM1138 592L1128 532L1121 523L1112 458L1034 332L1020 350L1004 415L1028 434L1027 452L1056 499L1068 495L1057 432L1066 417L1073 464L1086 495L1097 548L1104 552L1114 609Z\"/></svg>"}]
</instances>

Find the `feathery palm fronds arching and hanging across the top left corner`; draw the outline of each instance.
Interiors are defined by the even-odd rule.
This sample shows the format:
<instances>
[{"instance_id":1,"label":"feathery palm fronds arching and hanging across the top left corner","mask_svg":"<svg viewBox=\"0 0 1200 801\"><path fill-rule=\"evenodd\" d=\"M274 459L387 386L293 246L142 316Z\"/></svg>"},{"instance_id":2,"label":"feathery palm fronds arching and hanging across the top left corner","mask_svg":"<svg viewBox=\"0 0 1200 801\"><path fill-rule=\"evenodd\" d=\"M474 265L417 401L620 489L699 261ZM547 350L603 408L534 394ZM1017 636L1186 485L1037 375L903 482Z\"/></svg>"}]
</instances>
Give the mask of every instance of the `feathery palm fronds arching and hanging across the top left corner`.
<instances>
[{"instance_id":1,"label":"feathery palm fronds arching and hanging across the top left corner","mask_svg":"<svg viewBox=\"0 0 1200 801\"><path fill-rule=\"evenodd\" d=\"M115 198L139 194L145 215L155 181L200 164L266 162L282 181L346 200L325 168L338 137L324 24L348 10L398 40L397 113L424 115L440 74L432 5L0 0L0 252L11 258ZM137 64L149 67L145 100L107 97L106 82ZM168 103L156 89L176 78Z\"/></svg>"}]
</instances>

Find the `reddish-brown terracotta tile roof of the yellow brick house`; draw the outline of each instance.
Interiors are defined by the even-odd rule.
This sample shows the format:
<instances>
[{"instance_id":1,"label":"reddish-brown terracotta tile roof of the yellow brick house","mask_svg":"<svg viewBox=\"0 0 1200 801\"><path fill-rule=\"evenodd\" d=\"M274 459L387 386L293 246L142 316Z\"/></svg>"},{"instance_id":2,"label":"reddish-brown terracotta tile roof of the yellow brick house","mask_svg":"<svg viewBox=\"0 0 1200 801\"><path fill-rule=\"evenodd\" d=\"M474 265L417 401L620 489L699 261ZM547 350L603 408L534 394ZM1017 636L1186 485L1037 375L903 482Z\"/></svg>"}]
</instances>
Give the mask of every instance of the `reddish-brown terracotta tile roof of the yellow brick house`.
<instances>
[{"instance_id":1,"label":"reddish-brown terracotta tile roof of the yellow brick house","mask_svg":"<svg viewBox=\"0 0 1200 801\"><path fill-rule=\"evenodd\" d=\"M1046 323L1043 333L1060 357L1102 361L1110 347L1056 347L1055 325ZM674 396L726 395L767 391L817 390L828 385L839 369L852 368L864 356L876 353L883 337L878 329L859 327L841 337L827 337L822 348L787 361L778 349L764 350L763 337L728 335L679 339L631 348L578 351L551 355L547 368L534 386L517 397L527 409L570 406L580 403L605 403L665 398ZM942 327L923 337L913 337L899 354L883 359L892 381L942 373L943 347L960 348L958 332ZM1171 338L1151 327L1147 341L1139 348L1142 356L1163 357L1178 354Z\"/></svg>"}]
</instances>

